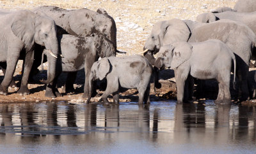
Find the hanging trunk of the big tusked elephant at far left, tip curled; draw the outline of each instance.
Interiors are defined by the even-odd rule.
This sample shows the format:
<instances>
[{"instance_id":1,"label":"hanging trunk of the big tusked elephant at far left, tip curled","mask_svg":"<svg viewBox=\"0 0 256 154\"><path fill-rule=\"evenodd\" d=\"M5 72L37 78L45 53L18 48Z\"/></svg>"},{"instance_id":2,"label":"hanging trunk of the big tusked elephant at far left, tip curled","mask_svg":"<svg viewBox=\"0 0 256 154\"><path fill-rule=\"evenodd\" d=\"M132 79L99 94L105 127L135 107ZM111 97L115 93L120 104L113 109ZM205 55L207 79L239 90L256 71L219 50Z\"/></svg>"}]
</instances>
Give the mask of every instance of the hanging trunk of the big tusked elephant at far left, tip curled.
<instances>
[{"instance_id":1,"label":"hanging trunk of the big tusked elephant at far left, tip curled","mask_svg":"<svg viewBox=\"0 0 256 154\"><path fill-rule=\"evenodd\" d=\"M54 43L51 43L50 45L45 45L45 48L47 49L47 61L48 61L48 70L47 70L47 80L40 80L42 83L48 84L51 83L56 74L56 63L58 59L58 41L57 39L54 41Z\"/></svg>"}]
</instances>

